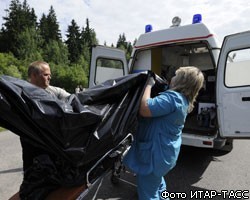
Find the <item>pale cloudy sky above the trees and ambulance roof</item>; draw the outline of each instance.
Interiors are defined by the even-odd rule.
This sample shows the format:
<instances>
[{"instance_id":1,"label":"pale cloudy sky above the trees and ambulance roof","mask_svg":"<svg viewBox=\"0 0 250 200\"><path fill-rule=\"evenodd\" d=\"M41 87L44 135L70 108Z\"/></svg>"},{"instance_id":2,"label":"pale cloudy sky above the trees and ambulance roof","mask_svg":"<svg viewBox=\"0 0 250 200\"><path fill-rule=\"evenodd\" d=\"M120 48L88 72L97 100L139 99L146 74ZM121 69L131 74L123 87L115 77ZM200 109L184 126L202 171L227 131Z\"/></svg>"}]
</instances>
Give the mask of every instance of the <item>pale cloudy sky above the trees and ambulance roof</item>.
<instances>
[{"instance_id":1,"label":"pale cloudy sky above the trees and ambulance roof","mask_svg":"<svg viewBox=\"0 0 250 200\"><path fill-rule=\"evenodd\" d=\"M11 0L0 0L0 26ZM23 0L20 0L23 2ZM226 35L250 30L250 1L246 0L27 0L34 8L38 20L48 14L52 5L63 38L72 19L79 27L94 28L99 44L116 45L119 35L125 33L127 41L143 34L145 25L153 31L172 25L175 16L181 25L192 23L194 14L202 15L206 24L222 42Z\"/></svg>"}]
</instances>

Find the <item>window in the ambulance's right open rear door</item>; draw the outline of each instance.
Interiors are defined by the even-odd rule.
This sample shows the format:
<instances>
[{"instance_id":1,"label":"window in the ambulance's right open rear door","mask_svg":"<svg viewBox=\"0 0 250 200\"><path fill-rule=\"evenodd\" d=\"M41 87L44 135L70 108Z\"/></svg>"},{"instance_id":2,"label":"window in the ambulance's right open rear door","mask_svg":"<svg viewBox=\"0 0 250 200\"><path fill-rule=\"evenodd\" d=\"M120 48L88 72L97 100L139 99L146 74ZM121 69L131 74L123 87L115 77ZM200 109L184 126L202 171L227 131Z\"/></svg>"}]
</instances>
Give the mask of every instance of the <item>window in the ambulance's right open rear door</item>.
<instances>
[{"instance_id":1,"label":"window in the ambulance's right open rear door","mask_svg":"<svg viewBox=\"0 0 250 200\"><path fill-rule=\"evenodd\" d=\"M250 49L231 51L225 69L225 85L240 87L250 85Z\"/></svg>"}]
</instances>

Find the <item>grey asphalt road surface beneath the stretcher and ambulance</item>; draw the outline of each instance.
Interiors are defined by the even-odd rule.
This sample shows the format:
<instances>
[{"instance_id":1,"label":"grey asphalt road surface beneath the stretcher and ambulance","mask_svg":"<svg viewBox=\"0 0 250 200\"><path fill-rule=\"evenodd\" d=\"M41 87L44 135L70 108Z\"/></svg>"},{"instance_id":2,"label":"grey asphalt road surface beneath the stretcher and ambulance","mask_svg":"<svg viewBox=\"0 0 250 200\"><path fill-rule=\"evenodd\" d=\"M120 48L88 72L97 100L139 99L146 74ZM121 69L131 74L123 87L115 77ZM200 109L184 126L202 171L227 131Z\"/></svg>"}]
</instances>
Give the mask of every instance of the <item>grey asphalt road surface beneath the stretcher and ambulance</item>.
<instances>
[{"instance_id":1,"label":"grey asphalt road surface beneath the stretcher and ambulance","mask_svg":"<svg viewBox=\"0 0 250 200\"><path fill-rule=\"evenodd\" d=\"M250 140L235 140L230 153L183 147L177 166L166 176L168 194L174 199L250 199L249 155ZM0 133L0 160L0 200L6 200L22 181L21 146L11 132ZM122 173L121 178L113 185L106 176L85 199L136 200L134 175Z\"/></svg>"}]
</instances>

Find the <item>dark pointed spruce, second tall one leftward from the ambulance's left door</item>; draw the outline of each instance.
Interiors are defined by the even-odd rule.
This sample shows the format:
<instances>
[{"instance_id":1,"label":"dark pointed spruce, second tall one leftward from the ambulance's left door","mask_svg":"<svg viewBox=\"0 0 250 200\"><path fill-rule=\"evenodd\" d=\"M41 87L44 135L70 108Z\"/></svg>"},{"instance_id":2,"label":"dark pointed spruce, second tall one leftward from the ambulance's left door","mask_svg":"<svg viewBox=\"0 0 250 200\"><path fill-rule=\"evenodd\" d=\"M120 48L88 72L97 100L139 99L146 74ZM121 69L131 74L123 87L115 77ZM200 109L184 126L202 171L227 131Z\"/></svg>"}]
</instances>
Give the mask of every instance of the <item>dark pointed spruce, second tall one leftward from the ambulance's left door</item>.
<instances>
[{"instance_id":1,"label":"dark pointed spruce, second tall one leftward from the ambulance's left door","mask_svg":"<svg viewBox=\"0 0 250 200\"><path fill-rule=\"evenodd\" d=\"M67 44L69 51L69 60L71 63L76 63L81 56L82 48L80 28L76 24L75 20L71 21L71 25L68 27L67 33L67 40L65 43Z\"/></svg>"}]
</instances>

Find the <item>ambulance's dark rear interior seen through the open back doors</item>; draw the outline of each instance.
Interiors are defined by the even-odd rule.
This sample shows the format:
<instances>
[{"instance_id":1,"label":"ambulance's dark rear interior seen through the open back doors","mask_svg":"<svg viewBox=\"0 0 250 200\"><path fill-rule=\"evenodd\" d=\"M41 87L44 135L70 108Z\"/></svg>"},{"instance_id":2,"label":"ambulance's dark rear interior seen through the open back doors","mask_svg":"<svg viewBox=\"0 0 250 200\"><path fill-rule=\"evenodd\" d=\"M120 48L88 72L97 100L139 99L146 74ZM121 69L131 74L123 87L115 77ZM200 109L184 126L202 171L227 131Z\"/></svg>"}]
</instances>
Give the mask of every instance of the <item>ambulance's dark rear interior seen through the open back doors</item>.
<instances>
[{"instance_id":1,"label":"ambulance's dark rear interior seen through the open back doors","mask_svg":"<svg viewBox=\"0 0 250 200\"><path fill-rule=\"evenodd\" d=\"M136 54L133 70L150 69L166 81L182 66L196 66L204 74L204 86L188 114L183 132L201 135L217 133L215 108L215 61L207 43L183 43L145 49ZM150 58L150 59L149 59Z\"/></svg>"}]
</instances>

